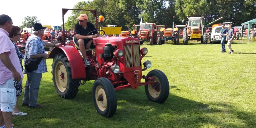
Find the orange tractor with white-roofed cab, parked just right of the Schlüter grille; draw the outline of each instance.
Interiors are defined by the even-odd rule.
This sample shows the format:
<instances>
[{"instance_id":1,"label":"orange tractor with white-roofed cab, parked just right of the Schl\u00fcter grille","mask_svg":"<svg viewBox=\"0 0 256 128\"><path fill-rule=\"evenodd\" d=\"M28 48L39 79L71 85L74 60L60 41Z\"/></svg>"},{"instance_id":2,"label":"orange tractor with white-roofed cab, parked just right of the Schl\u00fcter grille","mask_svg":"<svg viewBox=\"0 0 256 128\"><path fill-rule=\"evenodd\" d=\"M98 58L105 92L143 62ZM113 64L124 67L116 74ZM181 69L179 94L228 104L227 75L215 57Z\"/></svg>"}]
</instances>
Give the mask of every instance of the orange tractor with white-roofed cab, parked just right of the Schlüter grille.
<instances>
[{"instance_id":1,"label":"orange tractor with white-roofed cab, parked just right of the Schl\u00fcter grille","mask_svg":"<svg viewBox=\"0 0 256 128\"><path fill-rule=\"evenodd\" d=\"M140 37L142 41L149 41L150 45L156 44L157 31L154 29L155 23L142 23L140 25Z\"/></svg>"}]
</instances>

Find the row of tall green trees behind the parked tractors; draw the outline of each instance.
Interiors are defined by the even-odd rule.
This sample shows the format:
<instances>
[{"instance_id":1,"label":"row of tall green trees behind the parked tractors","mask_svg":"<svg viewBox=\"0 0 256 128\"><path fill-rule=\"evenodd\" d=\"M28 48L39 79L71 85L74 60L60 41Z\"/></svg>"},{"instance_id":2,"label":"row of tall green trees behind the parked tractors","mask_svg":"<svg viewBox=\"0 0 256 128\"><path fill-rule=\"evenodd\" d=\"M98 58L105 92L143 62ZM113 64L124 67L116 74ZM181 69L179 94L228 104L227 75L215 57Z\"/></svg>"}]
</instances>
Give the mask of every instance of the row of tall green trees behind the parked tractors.
<instances>
[{"instance_id":1,"label":"row of tall green trees behind the parked tractors","mask_svg":"<svg viewBox=\"0 0 256 128\"><path fill-rule=\"evenodd\" d=\"M188 17L204 15L211 22L223 17L217 23L229 20L234 26L256 18L255 0L94 0L78 2L74 9L97 10L97 16L104 16L106 25L117 25L122 30L143 22L172 27L187 21ZM88 21L95 25L95 17L89 11L72 10L65 23L65 29L74 27L81 13L88 15ZM97 17L98 18L98 17ZM26 20L26 19L25 19ZM98 22L98 21L97 21ZM97 24L100 27L100 24Z\"/></svg>"}]
</instances>

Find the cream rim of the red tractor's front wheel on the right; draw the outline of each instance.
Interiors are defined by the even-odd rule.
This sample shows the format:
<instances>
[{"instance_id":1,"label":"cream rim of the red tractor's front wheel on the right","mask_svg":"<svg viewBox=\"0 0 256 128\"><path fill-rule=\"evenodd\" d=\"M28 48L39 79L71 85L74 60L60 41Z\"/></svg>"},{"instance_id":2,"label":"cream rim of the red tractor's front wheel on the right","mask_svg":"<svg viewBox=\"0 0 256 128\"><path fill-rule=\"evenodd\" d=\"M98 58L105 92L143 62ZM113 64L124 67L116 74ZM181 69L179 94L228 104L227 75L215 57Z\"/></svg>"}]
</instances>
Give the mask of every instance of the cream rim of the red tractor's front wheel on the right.
<instances>
[{"instance_id":1,"label":"cream rim of the red tractor's front wheel on the right","mask_svg":"<svg viewBox=\"0 0 256 128\"><path fill-rule=\"evenodd\" d=\"M158 78L156 77L152 77L152 78L154 78L154 87L152 87L152 84L148 84L148 92L153 98L157 98L161 92L161 84ZM149 80L149 81L152 81L152 80Z\"/></svg>"}]
</instances>

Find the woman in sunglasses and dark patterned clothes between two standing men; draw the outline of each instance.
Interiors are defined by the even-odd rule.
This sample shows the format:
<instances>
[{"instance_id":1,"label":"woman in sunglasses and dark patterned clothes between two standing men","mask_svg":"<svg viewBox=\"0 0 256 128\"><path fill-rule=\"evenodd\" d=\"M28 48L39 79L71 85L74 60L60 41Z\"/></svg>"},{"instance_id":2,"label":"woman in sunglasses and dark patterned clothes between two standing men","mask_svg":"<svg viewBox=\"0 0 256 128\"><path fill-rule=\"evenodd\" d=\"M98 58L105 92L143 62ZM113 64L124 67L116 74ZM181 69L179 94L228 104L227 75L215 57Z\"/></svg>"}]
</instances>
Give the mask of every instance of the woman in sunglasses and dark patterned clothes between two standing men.
<instances>
[{"instance_id":1,"label":"woman in sunglasses and dark patterned clothes between two standing men","mask_svg":"<svg viewBox=\"0 0 256 128\"><path fill-rule=\"evenodd\" d=\"M13 45L15 46L16 49L16 53L18 55L19 61L20 61L20 65L22 67L23 70L23 66L22 66L22 59L24 59L24 56L22 55L22 53L19 51L16 42L20 39L20 31L21 29L18 26L13 26L12 31L9 32L9 38L10 40L13 42ZM16 115L27 115L27 113L23 113L22 111L19 110L18 108L18 101L19 101L19 96L21 95L22 92L22 78L19 81L16 81L14 83L14 87L16 88L16 106L13 110L13 116Z\"/></svg>"}]
</instances>

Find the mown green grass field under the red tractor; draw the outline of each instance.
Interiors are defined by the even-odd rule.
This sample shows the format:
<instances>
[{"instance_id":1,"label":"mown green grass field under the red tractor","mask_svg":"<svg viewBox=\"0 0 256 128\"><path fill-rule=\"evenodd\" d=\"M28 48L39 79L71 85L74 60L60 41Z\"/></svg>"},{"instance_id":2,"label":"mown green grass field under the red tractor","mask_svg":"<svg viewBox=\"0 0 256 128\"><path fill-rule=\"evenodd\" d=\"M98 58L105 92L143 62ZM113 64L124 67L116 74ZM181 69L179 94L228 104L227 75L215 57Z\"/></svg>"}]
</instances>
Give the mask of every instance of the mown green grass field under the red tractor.
<instances>
[{"instance_id":1,"label":"mown green grass field under the red tractor","mask_svg":"<svg viewBox=\"0 0 256 128\"><path fill-rule=\"evenodd\" d=\"M162 70L170 84L170 94L163 104L149 101L144 86L137 90L116 91L117 110L113 117L99 115L92 100L92 84L79 87L73 99L57 96L52 86L52 59L47 59L38 103L44 108L19 108L26 116L13 117L17 128L254 128L256 127L256 42L234 41L234 54L220 53L220 44L188 45L172 42L158 46L143 44L150 60L150 70ZM228 51L228 48L226 48ZM25 84L26 75L23 79Z\"/></svg>"}]
</instances>

